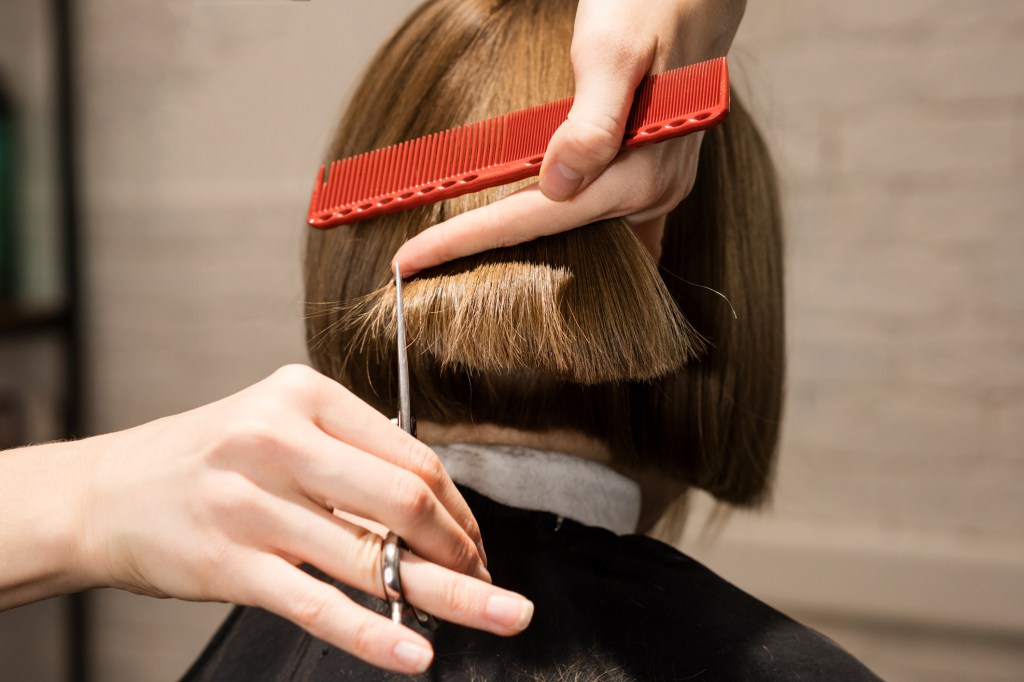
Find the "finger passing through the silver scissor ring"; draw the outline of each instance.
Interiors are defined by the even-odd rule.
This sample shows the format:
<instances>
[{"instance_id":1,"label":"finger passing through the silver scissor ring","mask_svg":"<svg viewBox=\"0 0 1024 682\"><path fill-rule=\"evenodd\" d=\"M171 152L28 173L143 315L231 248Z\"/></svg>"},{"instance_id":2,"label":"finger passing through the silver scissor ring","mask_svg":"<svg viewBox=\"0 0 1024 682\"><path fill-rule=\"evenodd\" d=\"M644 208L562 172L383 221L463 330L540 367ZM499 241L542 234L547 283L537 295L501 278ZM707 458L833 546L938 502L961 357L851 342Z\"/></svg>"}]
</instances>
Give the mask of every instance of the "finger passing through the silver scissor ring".
<instances>
[{"instance_id":1,"label":"finger passing through the silver scissor ring","mask_svg":"<svg viewBox=\"0 0 1024 682\"><path fill-rule=\"evenodd\" d=\"M281 551L298 556L338 581L384 598L380 536L328 514L282 504L273 538ZM497 635L515 635L528 624L534 605L521 595L450 570L402 551L400 578L411 604L444 621Z\"/></svg>"}]
</instances>

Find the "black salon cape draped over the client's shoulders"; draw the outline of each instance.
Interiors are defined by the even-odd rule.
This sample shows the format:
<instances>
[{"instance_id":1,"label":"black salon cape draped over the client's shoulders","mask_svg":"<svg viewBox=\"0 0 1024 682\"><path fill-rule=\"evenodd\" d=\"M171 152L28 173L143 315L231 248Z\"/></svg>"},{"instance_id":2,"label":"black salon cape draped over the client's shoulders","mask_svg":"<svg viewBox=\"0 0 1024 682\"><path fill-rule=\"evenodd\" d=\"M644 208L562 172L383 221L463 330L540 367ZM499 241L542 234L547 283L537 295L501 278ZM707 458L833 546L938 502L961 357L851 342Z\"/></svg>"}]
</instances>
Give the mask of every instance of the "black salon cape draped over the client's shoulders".
<instances>
[{"instance_id":1,"label":"black salon cape draped over the client's shoulders","mask_svg":"<svg viewBox=\"0 0 1024 682\"><path fill-rule=\"evenodd\" d=\"M495 585L536 605L522 634L498 637L452 624L418 629L433 642L434 664L410 678L368 666L276 615L238 608L184 679L878 679L831 640L668 545L462 492L480 523ZM380 600L341 589L384 612Z\"/></svg>"}]
</instances>

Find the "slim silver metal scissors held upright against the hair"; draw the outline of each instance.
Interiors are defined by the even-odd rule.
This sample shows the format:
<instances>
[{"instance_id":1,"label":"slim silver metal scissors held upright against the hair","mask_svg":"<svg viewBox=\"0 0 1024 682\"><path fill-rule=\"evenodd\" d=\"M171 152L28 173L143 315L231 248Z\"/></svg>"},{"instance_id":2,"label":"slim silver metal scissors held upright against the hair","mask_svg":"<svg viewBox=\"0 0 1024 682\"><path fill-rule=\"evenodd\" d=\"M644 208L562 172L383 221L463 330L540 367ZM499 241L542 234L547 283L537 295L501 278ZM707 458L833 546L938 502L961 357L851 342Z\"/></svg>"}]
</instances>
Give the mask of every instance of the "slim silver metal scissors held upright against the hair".
<instances>
[{"instance_id":1,"label":"slim silver metal scissors held upright against the hair","mask_svg":"<svg viewBox=\"0 0 1024 682\"><path fill-rule=\"evenodd\" d=\"M401 269L394 263L395 313L398 327L398 417L391 421L396 423L406 433L416 437L416 418L413 416L413 401L409 390L409 353L406 348L406 314L401 303ZM401 577L398 562L401 550L406 544L394 532L389 532L384 540L381 552L381 579L384 582L384 596L391 610L391 621L401 625L402 612L406 608L406 596L401 591ZM434 629L437 621L426 611L416 606L413 613L419 624L425 628Z\"/></svg>"}]
</instances>

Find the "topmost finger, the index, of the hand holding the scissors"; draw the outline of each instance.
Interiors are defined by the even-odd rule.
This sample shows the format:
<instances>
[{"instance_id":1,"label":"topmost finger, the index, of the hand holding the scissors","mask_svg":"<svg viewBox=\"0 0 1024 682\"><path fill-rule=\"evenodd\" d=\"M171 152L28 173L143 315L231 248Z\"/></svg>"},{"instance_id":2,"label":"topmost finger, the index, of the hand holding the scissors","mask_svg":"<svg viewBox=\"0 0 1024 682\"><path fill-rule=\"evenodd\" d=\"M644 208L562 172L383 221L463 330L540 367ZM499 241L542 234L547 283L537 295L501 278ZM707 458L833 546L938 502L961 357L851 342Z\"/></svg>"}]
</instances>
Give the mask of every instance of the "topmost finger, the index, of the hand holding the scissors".
<instances>
[{"instance_id":1,"label":"topmost finger, the index, of the hand holding the scissors","mask_svg":"<svg viewBox=\"0 0 1024 682\"><path fill-rule=\"evenodd\" d=\"M311 410L321 430L338 442L370 453L419 477L469 536L486 564L480 526L437 455L341 384L318 373L311 374L315 374Z\"/></svg>"}]
</instances>

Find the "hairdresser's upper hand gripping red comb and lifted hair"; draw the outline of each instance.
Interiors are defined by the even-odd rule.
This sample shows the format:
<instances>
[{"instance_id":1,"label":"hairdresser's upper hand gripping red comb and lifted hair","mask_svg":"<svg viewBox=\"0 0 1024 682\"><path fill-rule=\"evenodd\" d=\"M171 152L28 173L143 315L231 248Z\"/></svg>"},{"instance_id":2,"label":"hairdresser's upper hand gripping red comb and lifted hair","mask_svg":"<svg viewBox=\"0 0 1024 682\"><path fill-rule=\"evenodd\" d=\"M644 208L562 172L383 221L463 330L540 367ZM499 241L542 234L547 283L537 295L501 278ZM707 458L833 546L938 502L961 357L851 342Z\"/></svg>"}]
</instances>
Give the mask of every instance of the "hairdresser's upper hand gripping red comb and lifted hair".
<instances>
[{"instance_id":1,"label":"hairdresser's upper hand gripping red comb and lifted hair","mask_svg":"<svg viewBox=\"0 0 1024 682\"><path fill-rule=\"evenodd\" d=\"M693 186L702 133L620 154L633 92L648 73L725 54L745 0L580 0L575 101L541 181L435 225L395 255L412 274L469 254L626 216L660 255L664 221Z\"/></svg>"}]
</instances>

